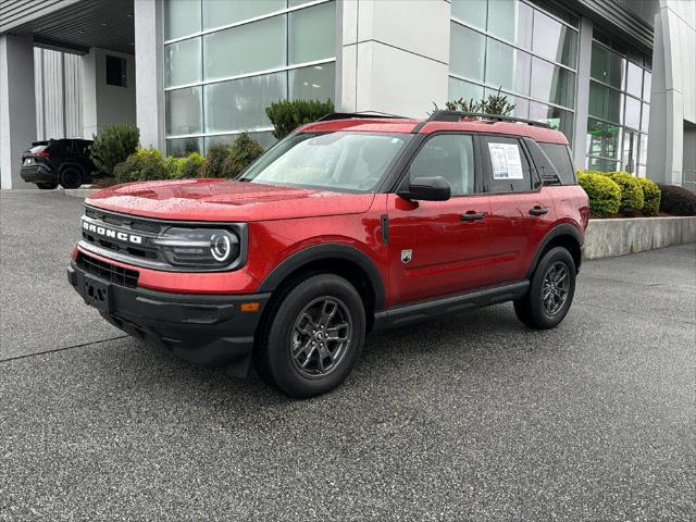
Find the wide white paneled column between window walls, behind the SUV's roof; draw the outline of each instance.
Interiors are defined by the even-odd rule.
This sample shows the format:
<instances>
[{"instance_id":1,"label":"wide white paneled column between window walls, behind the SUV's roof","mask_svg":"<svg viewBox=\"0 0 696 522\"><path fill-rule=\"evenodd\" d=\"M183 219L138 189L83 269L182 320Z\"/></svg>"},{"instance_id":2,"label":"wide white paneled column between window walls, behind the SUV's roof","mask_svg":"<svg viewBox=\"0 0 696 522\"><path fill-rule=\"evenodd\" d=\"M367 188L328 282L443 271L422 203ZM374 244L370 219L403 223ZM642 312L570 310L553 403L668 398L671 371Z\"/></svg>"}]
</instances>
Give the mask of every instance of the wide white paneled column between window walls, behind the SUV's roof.
<instances>
[{"instance_id":1,"label":"wide white paneled column between window walls, behind the SUV's roof","mask_svg":"<svg viewBox=\"0 0 696 522\"><path fill-rule=\"evenodd\" d=\"M423 117L447 100L450 3L345 0L337 110Z\"/></svg>"}]
</instances>

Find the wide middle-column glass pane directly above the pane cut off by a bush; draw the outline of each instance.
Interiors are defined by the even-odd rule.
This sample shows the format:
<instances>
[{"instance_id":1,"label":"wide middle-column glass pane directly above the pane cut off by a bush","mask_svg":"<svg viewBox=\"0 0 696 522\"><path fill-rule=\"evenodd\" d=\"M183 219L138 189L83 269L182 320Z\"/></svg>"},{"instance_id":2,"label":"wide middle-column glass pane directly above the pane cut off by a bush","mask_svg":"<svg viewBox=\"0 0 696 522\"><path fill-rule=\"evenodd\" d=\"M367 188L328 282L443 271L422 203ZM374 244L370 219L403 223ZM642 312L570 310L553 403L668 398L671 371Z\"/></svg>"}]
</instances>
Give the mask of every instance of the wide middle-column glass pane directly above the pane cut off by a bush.
<instances>
[{"instance_id":1,"label":"wide middle-column glass pane directly above the pane cut off by a bush","mask_svg":"<svg viewBox=\"0 0 696 522\"><path fill-rule=\"evenodd\" d=\"M284 65L285 15L203 37L206 79L268 71Z\"/></svg>"}]
</instances>

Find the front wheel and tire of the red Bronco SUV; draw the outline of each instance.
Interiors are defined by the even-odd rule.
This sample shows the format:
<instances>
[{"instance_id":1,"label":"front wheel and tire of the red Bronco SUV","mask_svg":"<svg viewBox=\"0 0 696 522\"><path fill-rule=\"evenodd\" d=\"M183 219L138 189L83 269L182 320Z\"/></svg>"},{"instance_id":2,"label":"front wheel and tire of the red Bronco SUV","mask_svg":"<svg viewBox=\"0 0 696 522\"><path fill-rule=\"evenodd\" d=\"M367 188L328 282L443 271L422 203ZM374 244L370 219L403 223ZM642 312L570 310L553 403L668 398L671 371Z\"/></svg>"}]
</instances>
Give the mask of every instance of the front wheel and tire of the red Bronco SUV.
<instances>
[{"instance_id":1,"label":"front wheel and tire of the red Bronco SUV","mask_svg":"<svg viewBox=\"0 0 696 522\"><path fill-rule=\"evenodd\" d=\"M350 373L364 343L365 312L348 281L313 275L279 295L269 314L253 353L269 384L307 398L331 391Z\"/></svg>"}]
</instances>

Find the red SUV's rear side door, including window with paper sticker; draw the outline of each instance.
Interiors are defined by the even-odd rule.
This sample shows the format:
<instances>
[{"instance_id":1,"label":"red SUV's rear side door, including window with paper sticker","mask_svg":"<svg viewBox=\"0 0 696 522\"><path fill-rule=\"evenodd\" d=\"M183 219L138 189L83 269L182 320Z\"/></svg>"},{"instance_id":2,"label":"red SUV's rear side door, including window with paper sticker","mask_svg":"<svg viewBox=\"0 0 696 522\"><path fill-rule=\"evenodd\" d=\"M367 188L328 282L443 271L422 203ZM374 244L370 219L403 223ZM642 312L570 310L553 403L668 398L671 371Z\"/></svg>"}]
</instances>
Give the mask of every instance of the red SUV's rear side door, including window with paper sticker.
<instances>
[{"instance_id":1,"label":"red SUV's rear side door, including window with paper sticker","mask_svg":"<svg viewBox=\"0 0 696 522\"><path fill-rule=\"evenodd\" d=\"M489 195L489 262L485 285L517 282L525 277L542 239L550 232L556 212L548 189L534 169L524 141L511 136L482 137Z\"/></svg>"}]
</instances>

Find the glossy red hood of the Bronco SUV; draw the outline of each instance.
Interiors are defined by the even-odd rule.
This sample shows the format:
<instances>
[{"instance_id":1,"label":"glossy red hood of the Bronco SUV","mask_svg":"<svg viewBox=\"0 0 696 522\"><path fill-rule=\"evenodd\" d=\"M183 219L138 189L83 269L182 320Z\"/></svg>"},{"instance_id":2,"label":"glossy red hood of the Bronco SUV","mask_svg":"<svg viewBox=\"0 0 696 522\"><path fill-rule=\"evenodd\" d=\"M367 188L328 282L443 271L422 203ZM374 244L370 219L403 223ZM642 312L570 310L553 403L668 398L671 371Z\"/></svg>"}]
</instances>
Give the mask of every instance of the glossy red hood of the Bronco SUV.
<instances>
[{"instance_id":1,"label":"glossy red hood of the Bronco SUV","mask_svg":"<svg viewBox=\"0 0 696 522\"><path fill-rule=\"evenodd\" d=\"M268 221L360 214L374 194L278 187L228 179L181 179L117 185L89 196L103 210L185 221Z\"/></svg>"}]
</instances>

